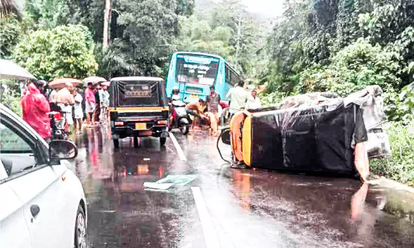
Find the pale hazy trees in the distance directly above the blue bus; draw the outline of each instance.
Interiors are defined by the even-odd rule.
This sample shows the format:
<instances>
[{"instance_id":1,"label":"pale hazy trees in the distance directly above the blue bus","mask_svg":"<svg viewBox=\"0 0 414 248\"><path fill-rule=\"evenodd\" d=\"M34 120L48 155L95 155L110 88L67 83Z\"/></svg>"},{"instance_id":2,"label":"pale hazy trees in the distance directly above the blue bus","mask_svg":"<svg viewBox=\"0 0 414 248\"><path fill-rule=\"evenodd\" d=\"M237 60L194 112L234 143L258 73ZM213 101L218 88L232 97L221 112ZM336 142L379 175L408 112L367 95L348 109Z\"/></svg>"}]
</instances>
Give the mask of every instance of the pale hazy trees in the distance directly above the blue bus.
<instances>
[{"instance_id":1,"label":"pale hazy trees in the distance directly above the blue bus","mask_svg":"<svg viewBox=\"0 0 414 248\"><path fill-rule=\"evenodd\" d=\"M239 0L222 0L207 13L179 17L175 50L219 54L252 81L266 67L260 63L266 59L265 40L265 25L246 12Z\"/></svg>"}]
</instances>

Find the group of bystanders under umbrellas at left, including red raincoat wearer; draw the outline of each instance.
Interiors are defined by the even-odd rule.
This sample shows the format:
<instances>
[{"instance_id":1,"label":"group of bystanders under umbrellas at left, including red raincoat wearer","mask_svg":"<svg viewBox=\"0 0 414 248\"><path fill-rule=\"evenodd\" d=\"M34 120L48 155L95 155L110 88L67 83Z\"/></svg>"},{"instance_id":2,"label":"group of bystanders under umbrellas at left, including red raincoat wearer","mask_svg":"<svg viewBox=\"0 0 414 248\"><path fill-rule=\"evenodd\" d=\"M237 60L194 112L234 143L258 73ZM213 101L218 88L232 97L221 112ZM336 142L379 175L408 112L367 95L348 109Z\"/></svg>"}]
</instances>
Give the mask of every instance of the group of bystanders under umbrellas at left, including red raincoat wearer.
<instances>
[{"instance_id":1,"label":"group of bystanders under umbrellas at left, including red raincoat wearer","mask_svg":"<svg viewBox=\"0 0 414 248\"><path fill-rule=\"evenodd\" d=\"M45 140L52 139L53 135L51 111L64 114L69 133L75 130L79 134L83 127L93 128L94 124L108 123L108 86L99 83L88 83L82 94L81 88L72 83L49 89L46 81L34 81L23 89L21 104L23 119Z\"/></svg>"}]
</instances>

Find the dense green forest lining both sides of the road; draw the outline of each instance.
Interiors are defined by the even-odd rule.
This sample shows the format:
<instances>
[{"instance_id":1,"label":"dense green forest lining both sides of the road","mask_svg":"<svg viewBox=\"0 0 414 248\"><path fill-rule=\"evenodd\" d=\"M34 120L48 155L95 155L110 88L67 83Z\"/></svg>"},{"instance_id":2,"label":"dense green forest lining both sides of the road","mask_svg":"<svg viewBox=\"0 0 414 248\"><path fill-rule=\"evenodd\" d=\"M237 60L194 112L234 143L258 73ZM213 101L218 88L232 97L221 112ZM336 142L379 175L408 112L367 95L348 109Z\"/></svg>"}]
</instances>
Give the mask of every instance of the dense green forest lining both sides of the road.
<instances>
[{"instance_id":1,"label":"dense green forest lining both sides of the road","mask_svg":"<svg viewBox=\"0 0 414 248\"><path fill-rule=\"evenodd\" d=\"M15 7L2 11L0 56L46 80L164 76L174 51L203 50L223 56L246 82L267 85L265 104L378 84L393 154L372 168L414 184L412 0L285 0L274 20L240 0L27 0Z\"/></svg>"}]
</instances>

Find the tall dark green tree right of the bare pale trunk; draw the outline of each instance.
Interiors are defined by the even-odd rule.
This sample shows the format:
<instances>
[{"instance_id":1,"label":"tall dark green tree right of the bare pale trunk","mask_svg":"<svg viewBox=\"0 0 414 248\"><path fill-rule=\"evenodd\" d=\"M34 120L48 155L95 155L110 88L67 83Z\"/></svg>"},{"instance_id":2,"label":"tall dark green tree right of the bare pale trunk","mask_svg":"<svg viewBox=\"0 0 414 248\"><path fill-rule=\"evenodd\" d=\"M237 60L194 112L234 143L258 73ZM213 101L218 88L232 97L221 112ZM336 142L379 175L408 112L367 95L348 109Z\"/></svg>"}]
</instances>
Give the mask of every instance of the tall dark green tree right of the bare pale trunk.
<instances>
[{"instance_id":1,"label":"tall dark green tree right of the bare pale trunk","mask_svg":"<svg viewBox=\"0 0 414 248\"><path fill-rule=\"evenodd\" d=\"M178 36L179 15L190 15L193 6L193 0L117 1L110 47L96 50L99 73L162 76Z\"/></svg>"}]
</instances>

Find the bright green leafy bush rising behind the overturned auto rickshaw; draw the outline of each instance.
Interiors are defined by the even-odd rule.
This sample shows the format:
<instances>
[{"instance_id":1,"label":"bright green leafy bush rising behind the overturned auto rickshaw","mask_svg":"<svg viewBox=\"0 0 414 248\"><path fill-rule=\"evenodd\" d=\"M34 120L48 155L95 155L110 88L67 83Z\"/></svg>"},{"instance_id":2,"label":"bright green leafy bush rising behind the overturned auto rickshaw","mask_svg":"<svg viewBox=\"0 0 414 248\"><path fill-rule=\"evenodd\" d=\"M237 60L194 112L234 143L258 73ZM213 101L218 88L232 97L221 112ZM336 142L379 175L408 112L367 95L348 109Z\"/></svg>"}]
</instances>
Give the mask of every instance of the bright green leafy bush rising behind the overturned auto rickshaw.
<instances>
[{"instance_id":1,"label":"bright green leafy bush rising behind the overturned auto rickshaw","mask_svg":"<svg viewBox=\"0 0 414 248\"><path fill-rule=\"evenodd\" d=\"M387 52L359 39L339 51L328 66L313 67L301 73L302 92L332 90L342 96L368 85L382 88L399 86L398 54Z\"/></svg>"}]
</instances>

